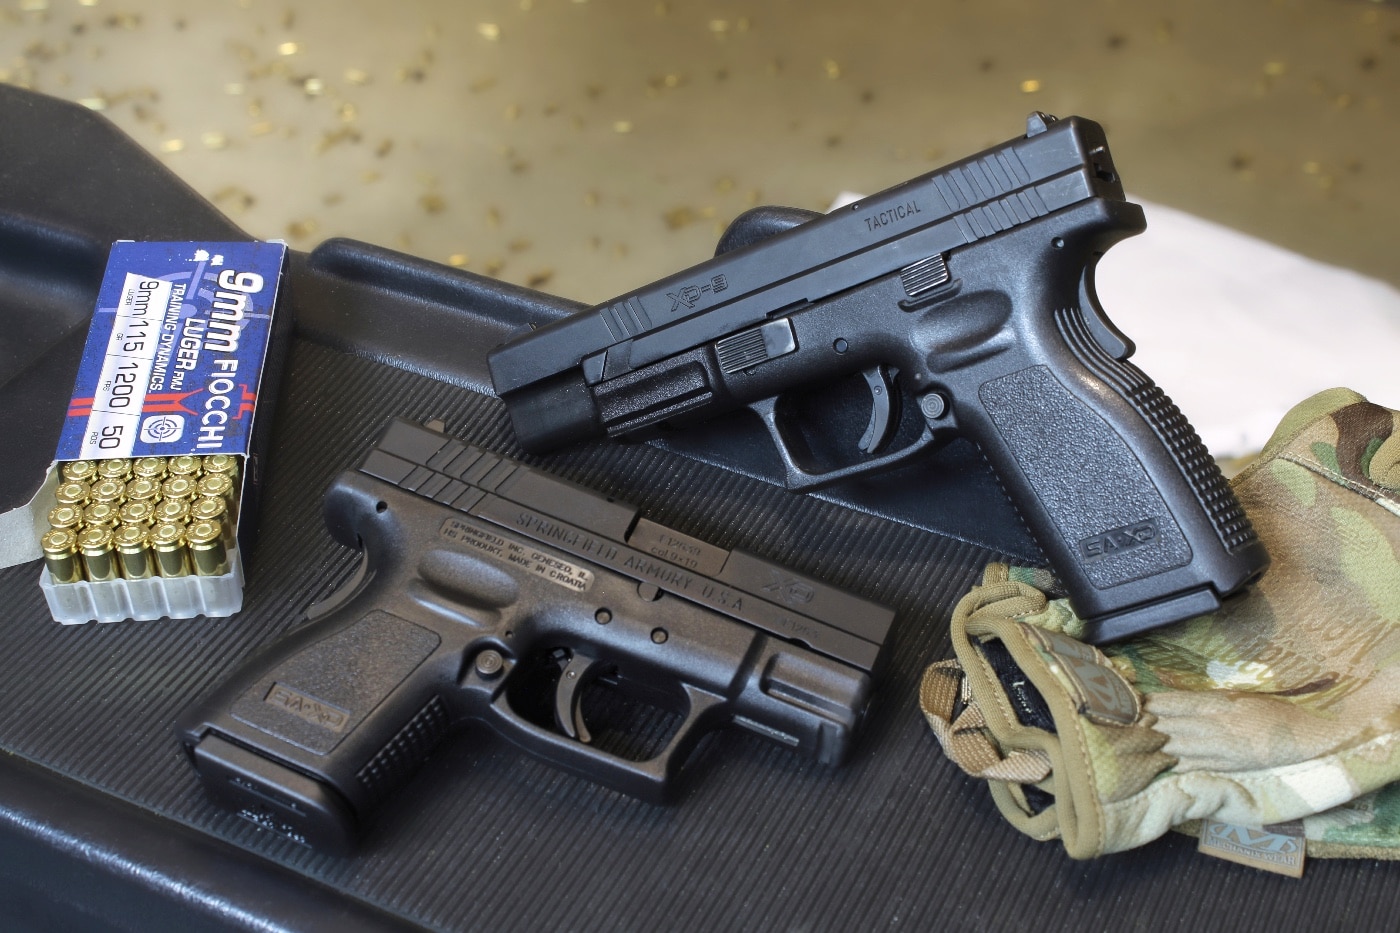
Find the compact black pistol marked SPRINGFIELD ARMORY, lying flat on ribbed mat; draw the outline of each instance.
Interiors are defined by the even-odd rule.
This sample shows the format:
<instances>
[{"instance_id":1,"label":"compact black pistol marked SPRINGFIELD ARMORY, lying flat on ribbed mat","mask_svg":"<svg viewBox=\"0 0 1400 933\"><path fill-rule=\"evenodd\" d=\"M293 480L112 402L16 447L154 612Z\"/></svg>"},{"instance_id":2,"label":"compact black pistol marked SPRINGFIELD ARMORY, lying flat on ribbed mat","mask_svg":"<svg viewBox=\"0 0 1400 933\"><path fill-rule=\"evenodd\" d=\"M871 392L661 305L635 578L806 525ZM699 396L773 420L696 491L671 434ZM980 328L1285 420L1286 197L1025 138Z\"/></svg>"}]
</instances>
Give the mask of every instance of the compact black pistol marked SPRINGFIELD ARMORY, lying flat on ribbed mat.
<instances>
[{"instance_id":1,"label":"compact black pistol marked SPRINGFIELD ARMORY, lying flat on ribbed mat","mask_svg":"<svg viewBox=\"0 0 1400 933\"><path fill-rule=\"evenodd\" d=\"M468 720L654 801L721 726L839 763L893 618L405 420L325 516L358 572L178 733L211 799L332 852Z\"/></svg>"}]
</instances>

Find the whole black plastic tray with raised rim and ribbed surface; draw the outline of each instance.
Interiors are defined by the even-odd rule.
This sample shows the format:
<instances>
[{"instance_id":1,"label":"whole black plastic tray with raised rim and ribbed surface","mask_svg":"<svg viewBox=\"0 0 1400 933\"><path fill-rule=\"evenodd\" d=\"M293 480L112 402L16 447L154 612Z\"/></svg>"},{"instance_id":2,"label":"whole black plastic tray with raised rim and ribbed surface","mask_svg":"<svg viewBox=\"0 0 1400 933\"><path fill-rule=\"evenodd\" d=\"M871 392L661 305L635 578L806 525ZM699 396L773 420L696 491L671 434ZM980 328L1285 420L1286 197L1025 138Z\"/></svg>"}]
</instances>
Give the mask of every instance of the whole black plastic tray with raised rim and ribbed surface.
<instances>
[{"instance_id":1,"label":"whole black plastic tray with raised rim and ribbed surface","mask_svg":"<svg viewBox=\"0 0 1400 933\"><path fill-rule=\"evenodd\" d=\"M105 119L0 84L0 511L43 476L112 241L246 238ZM666 444L521 457L486 350L577 305L350 241L288 259L295 322L263 464L259 542L228 619L63 626L38 565L0 572L0 911L10 929L1376 927L1389 864L1302 881L1169 836L1075 863L1012 831L917 706L955 600L988 559L1037 559L976 451L819 496L777 485L756 419ZM445 741L354 857L210 804L176 717L354 572L321 496L391 416L615 495L897 609L853 759L741 730L707 740L659 807L553 769L484 727Z\"/></svg>"}]
</instances>

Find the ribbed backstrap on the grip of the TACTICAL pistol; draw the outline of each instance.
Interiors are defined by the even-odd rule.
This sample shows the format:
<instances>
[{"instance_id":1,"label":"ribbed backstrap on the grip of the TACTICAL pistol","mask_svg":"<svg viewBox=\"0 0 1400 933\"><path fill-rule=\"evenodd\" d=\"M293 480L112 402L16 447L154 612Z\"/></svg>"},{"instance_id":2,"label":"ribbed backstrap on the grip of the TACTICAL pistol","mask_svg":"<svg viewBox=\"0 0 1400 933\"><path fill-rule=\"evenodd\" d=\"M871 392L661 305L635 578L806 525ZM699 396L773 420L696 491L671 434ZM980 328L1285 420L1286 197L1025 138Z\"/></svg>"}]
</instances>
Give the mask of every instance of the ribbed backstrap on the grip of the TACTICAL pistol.
<instances>
[{"instance_id":1,"label":"ribbed backstrap on the grip of the TACTICAL pistol","mask_svg":"<svg viewBox=\"0 0 1400 933\"><path fill-rule=\"evenodd\" d=\"M1259 534L1221 474L1219 465L1176 403L1142 370L1105 353L1089 333L1079 308L1056 311L1056 324L1075 357L1121 392L1152 426L1191 483L1225 549L1235 551L1257 541Z\"/></svg>"}]
</instances>

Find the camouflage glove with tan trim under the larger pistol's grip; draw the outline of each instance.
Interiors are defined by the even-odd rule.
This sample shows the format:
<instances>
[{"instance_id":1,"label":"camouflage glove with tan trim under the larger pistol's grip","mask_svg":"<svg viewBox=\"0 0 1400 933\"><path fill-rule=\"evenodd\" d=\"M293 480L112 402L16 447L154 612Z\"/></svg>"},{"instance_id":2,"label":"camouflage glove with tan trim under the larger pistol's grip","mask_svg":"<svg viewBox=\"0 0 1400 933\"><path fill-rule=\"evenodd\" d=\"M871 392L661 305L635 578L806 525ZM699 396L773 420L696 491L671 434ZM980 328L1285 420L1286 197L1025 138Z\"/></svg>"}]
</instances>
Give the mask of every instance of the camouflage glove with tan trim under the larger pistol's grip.
<instances>
[{"instance_id":1,"label":"camouflage glove with tan trim under the larger pistol's grip","mask_svg":"<svg viewBox=\"0 0 1400 933\"><path fill-rule=\"evenodd\" d=\"M997 807L1077 859L1211 820L1400 857L1400 415L1316 395L1232 482L1273 567L1102 651L1043 572L987 569L920 700ZM1193 824L1196 825L1196 824Z\"/></svg>"}]
</instances>

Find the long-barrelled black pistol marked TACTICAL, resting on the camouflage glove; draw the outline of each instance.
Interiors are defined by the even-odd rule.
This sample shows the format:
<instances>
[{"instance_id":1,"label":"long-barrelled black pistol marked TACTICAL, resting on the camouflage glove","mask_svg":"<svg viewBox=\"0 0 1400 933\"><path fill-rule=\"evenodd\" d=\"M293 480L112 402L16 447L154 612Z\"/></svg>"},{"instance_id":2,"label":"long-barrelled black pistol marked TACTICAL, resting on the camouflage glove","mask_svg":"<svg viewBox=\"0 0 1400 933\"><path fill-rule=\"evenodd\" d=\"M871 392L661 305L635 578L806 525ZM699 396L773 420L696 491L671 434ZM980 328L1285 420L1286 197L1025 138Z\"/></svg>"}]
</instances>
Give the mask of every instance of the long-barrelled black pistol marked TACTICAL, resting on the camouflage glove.
<instances>
[{"instance_id":1,"label":"long-barrelled black pistol marked TACTICAL, resting on the camouflage glove","mask_svg":"<svg viewBox=\"0 0 1400 933\"><path fill-rule=\"evenodd\" d=\"M1210 612L1268 566L1099 307L1099 258L1144 228L1103 129L1033 113L1025 136L518 336L491 378L532 451L748 406L791 489L967 437L1107 642ZM844 384L868 402L843 420Z\"/></svg>"}]
</instances>

